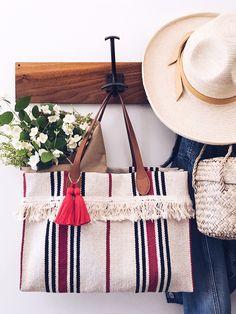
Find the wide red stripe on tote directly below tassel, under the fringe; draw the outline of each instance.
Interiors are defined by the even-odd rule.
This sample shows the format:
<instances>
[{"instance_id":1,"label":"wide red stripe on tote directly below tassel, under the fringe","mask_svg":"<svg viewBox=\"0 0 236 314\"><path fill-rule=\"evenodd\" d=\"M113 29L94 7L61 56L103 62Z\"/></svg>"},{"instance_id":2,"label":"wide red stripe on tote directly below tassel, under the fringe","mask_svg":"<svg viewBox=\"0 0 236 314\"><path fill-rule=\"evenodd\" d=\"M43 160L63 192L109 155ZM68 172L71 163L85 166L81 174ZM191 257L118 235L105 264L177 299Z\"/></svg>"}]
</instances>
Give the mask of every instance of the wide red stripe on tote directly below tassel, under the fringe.
<instances>
[{"instance_id":1,"label":"wide red stripe on tote directly below tassel, under the fringe","mask_svg":"<svg viewBox=\"0 0 236 314\"><path fill-rule=\"evenodd\" d=\"M59 292L67 292L67 233L68 226L59 225Z\"/></svg>"}]
</instances>

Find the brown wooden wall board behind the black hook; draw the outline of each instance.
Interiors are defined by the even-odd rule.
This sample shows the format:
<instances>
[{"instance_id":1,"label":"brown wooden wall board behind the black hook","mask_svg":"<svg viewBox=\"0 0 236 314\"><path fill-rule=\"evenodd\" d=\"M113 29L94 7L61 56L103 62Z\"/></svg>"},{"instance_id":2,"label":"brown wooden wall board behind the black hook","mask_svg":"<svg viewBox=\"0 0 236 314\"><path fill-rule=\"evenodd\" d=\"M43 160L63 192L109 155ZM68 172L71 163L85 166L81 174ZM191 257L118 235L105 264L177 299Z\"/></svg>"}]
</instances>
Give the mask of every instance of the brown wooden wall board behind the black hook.
<instances>
[{"instance_id":1,"label":"brown wooden wall board behind the black hook","mask_svg":"<svg viewBox=\"0 0 236 314\"><path fill-rule=\"evenodd\" d=\"M33 103L100 104L106 95L101 86L111 72L110 62L16 62L16 99L32 96ZM118 62L128 89L126 104L147 104L141 62ZM118 99L114 99L114 103Z\"/></svg>"}]
</instances>

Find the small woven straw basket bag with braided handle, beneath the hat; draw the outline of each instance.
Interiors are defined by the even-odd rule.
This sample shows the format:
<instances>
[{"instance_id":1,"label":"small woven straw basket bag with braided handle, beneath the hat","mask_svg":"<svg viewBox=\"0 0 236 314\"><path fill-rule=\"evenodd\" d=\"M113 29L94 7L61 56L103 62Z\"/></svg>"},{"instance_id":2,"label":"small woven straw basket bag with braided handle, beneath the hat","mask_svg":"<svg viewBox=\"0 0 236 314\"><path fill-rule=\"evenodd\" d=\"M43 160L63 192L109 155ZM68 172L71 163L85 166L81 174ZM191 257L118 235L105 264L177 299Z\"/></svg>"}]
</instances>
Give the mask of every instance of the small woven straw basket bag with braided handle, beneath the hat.
<instances>
[{"instance_id":1,"label":"small woven straw basket bag with braided handle, beneath the hat","mask_svg":"<svg viewBox=\"0 0 236 314\"><path fill-rule=\"evenodd\" d=\"M225 157L200 160L193 167L198 230L219 239L236 239L236 158L232 145Z\"/></svg>"}]
</instances>

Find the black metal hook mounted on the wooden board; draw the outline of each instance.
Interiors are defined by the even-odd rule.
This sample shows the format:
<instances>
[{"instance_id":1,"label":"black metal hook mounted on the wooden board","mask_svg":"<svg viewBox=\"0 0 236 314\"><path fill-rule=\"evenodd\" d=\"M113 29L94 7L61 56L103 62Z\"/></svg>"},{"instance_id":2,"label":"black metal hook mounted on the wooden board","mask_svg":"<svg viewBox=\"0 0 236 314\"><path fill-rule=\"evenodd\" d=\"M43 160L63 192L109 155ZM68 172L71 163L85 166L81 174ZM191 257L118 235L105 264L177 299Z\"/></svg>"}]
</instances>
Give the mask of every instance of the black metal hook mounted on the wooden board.
<instances>
[{"instance_id":1,"label":"black metal hook mounted on the wooden board","mask_svg":"<svg viewBox=\"0 0 236 314\"><path fill-rule=\"evenodd\" d=\"M118 93L122 93L128 86L124 83L124 74L116 72L116 55L115 55L115 39L120 39L118 36L108 36L105 40L110 39L111 47L111 73L106 75L106 84L102 86L107 93L112 93L116 96Z\"/></svg>"}]
</instances>

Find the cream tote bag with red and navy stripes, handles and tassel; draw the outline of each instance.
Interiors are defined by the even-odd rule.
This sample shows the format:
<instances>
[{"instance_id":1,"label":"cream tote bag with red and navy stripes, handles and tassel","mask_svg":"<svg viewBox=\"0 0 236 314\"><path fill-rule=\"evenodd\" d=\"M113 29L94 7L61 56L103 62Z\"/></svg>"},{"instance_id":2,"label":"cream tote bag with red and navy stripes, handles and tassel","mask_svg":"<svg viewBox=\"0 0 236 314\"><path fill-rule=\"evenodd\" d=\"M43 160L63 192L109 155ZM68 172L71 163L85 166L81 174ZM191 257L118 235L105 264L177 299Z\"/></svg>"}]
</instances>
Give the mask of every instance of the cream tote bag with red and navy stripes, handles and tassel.
<instances>
[{"instance_id":1,"label":"cream tote bag with red and navy stripes, handles and tassel","mask_svg":"<svg viewBox=\"0 0 236 314\"><path fill-rule=\"evenodd\" d=\"M80 171L93 125L110 97L69 172L23 173L22 291L193 291L188 174L143 167L122 99L135 167Z\"/></svg>"}]
</instances>

